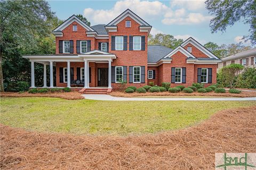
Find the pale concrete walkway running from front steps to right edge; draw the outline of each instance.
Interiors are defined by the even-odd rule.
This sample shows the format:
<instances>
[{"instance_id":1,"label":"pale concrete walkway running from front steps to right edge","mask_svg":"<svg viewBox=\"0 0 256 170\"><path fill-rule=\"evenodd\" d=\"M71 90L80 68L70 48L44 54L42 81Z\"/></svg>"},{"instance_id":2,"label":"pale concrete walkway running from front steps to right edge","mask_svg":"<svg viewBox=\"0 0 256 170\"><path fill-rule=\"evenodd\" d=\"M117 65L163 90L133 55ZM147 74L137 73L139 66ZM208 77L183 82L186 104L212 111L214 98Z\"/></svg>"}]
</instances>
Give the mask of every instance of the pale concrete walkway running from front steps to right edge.
<instances>
[{"instance_id":1,"label":"pale concrete walkway running from front steps to right edge","mask_svg":"<svg viewBox=\"0 0 256 170\"><path fill-rule=\"evenodd\" d=\"M110 95L82 95L85 99L91 100L109 100L109 101L256 101L256 97L245 98L132 98L132 97L114 97Z\"/></svg>"}]
</instances>

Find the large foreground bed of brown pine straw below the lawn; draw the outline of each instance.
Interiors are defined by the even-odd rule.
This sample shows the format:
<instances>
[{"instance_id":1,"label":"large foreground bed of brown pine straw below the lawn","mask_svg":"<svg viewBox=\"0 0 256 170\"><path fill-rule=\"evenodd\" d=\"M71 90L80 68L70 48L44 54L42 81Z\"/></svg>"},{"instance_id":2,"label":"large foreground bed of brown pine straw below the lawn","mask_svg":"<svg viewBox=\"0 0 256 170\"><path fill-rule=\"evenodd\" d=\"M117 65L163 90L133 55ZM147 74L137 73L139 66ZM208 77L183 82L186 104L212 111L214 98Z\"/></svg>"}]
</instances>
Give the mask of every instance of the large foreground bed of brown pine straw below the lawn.
<instances>
[{"instance_id":1,"label":"large foreground bed of brown pine straw below the lawn","mask_svg":"<svg viewBox=\"0 0 256 170\"><path fill-rule=\"evenodd\" d=\"M214 169L215 152L256 152L256 106L191 128L130 137L29 132L1 125L1 169Z\"/></svg>"}]
</instances>

